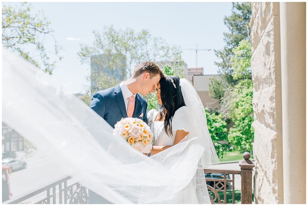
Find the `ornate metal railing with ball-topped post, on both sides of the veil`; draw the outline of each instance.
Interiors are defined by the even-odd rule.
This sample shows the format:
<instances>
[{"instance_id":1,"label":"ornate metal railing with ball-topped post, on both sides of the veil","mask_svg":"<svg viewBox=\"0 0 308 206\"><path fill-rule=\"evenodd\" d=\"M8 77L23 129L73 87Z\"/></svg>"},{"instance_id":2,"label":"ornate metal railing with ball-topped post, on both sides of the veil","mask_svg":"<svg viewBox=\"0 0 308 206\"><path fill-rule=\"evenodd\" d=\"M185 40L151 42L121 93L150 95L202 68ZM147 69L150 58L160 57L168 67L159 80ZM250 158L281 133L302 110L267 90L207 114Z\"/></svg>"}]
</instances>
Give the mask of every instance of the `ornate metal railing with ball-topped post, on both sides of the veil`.
<instances>
[{"instance_id":1,"label":"ornate metal railing with ball-topped post, on both sides of the veil","mask_svg":"<svg viewBox=\"0 0 308 206\"><path fill-rule=\"evenodd\" d=\"M241 204L252 203L252 169L254 164L249 160L250 154L245 152L243 154L244 160L239 161L241 167L237 169L204 169L205 173L217 173L223 174L223 179L217 178L205 178L207 181L207 188L209 190L210 200L212 204L226 204L227 183L232 183L232 204L235 203L234 197L234 176L241 175ZM232 175L232 179L227 178L227 174ZM78 182L72 183L67 186L67 181L71 180L71 177L63 177L57 181L47 184L42 188L27 192L17 198L7 200L2 204L18 204L23 203L26 200L46 192L46 196L39 201L35 201L35 204L87 204L88 195L87 189L80 185ZM212 182L213 187L209 184ZM223 199L218 192L223 192Z\"/></svg>"}]
</instances>

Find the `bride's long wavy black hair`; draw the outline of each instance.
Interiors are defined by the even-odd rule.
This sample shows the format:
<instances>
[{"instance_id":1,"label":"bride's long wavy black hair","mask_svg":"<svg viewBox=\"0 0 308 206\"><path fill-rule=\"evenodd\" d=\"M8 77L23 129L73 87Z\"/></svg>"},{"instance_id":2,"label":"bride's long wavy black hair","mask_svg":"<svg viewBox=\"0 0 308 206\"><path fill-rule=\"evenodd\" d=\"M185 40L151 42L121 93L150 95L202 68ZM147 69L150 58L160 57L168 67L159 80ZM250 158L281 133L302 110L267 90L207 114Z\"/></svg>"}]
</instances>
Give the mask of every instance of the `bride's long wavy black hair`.
<instances>
[{"instance_id":1,"label":"bride's long wavy black hair","mask_svg":"<svg viewBox=\"0 0 308 206\"><path fill-rule=\"evenodd\" d=\"M162 77L159 83L160 98L162 102L162 105L158 107L159 120L163 119L165 116L164 129L169 136L172 136L171 123L173 115L180 107L186 106L180 87L180 78L173 75L167 75Z\"/></svg>"}]
</instances>

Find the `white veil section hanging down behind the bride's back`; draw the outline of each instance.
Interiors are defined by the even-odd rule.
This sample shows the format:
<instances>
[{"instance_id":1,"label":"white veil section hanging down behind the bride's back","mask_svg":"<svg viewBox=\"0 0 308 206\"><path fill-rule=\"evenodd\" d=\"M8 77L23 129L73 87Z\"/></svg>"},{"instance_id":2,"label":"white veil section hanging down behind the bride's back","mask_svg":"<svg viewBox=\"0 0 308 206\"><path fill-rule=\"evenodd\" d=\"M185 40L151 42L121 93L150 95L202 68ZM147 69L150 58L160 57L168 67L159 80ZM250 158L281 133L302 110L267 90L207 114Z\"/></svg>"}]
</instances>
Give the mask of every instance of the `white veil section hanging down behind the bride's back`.
<instances>
[{"instance_id":1,"label":"white veil section hanging down behind the bride's back","mask_svg":"<svg viewBox=\"0 0 308 206\"><path fill-rule=\"evenodd\" d=\"M201 157L200 167L209 167L212 163L218 163L219 159L207 126L204 106L193 85L185 78L180 79L181 91L189 117L193 123L194 136L199 137L200 145L205 148Z\"/></svg>"}]
</instances>

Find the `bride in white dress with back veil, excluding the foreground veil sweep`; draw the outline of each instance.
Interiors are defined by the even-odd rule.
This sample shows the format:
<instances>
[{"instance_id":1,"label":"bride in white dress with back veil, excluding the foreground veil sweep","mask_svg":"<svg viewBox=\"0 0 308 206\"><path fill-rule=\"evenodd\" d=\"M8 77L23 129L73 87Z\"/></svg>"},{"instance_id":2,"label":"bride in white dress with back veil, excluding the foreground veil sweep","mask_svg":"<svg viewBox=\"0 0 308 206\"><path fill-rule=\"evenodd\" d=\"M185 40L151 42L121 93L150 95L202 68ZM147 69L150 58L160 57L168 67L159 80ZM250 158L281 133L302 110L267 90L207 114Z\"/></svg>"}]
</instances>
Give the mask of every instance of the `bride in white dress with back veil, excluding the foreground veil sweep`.
<instances>
[{"instance_id":1,"label":"bride in white dress with back veil, excluding the foreground veil sweep","mask_svg":"<svg viewBox=\"0 0 308 206\"><path fill-rule=\"evenodd\" d=\"M198 130L204 130L202 128L206 127L206 117L202 102L188 80L180 80L177 76L170 75L162 77L156 87L156 97L160 104L158 111L152 109L148 112L148 125L154 137L150 156L155 157L155 154L175 146L179 142L198 137L199 143L206 149L202 155L203 162L200 161L199 166L209 166L208 163L211 162L212 157L213 161L218 161L213 142L206 132L207 128L204 133L198 134L197 132ZM191 117L195 118L195 120ZM194 124L196 122L199 123ZM204 144L205 142L208 144ZM210 204L202 169L197 170L196 174L199 178L193 178L176 198L167 203ZM201 180L203 180L202 183L204 184L202 185L202 192L200 191L201 184L196 183L196 181L200 183ZM199 190L197 189L198 187ZM200 195L200 192L202 195Z\"/></svg>"}]
</instances>

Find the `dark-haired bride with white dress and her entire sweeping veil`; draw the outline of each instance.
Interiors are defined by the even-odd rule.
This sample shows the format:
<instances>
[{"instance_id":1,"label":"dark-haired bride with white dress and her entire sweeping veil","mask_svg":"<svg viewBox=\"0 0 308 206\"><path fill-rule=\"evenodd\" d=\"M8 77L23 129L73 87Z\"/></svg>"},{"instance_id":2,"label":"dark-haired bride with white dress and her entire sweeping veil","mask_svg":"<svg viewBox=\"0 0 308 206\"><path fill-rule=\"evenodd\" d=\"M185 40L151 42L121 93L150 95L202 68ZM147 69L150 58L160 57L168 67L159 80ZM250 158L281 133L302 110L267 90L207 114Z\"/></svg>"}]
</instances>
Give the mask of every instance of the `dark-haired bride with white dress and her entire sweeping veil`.
<instances>
[{"instance_id":1,"label":"dark-haired bride with white dress and her entire sweeping veil","mask_svg":"<svg viewBox=\"0 0 308 206\"><path fill-rule=\"evenodd\" d=\"M2 120L57 165L49 167L46 162L37 174L31 170L38 181L69 175L117 204L210 202L202 168L216 161L217 155L202 103L187 80L170 77L175 87L169 78L161 81L160 97L166 110L153 110L150 118L171 121L166 123L167 130L159 126L161 122L152 122L157 138L147 157L113 134L113 128L75 95L57 93L44 75L2 48ZM168 107L165 103L180 91L186 106ZM162 131L168 137L162 134L160 138Z\"/></svg>"}]
</instances>

